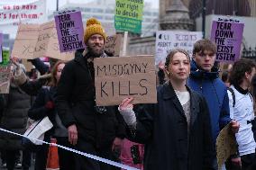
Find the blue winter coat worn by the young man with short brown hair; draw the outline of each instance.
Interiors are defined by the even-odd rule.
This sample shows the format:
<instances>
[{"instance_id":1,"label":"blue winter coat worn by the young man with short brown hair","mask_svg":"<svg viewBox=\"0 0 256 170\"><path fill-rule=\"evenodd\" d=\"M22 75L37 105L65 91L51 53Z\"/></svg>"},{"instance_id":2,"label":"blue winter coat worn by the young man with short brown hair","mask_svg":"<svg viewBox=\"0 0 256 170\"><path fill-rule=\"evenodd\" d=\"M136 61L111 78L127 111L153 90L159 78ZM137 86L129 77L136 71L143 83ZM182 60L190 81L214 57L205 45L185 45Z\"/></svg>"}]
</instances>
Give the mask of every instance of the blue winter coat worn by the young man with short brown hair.
<instances>
[{"instance_id":1,"label":"blue winter coat worn by the young man with short brown hair","mask_svg":"<svg viewBox=\"0 0 256 170\"><path fill-rule=\"evenodd\" d=\"M231 121L227 88L218 77L215 67L211 72L206 72L197 67L194 60L191 62L191 74L187 79L187 85L206 98L215 141L220 130Z\"/></svg>"}]
</instances>

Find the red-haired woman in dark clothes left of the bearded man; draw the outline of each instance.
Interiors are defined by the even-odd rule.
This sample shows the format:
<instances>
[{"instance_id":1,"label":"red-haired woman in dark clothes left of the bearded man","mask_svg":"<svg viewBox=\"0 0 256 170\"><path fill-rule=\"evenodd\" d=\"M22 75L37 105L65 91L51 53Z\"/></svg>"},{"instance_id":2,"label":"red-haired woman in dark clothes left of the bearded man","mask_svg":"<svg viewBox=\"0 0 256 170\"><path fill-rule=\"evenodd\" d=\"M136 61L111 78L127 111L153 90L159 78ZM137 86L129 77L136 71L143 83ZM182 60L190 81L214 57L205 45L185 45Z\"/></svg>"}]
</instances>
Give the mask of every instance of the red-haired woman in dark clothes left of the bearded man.
<instances>
[{"instance_id":1,"label":"red-haired woman in dark clothes left of the bearded man","mask_svg":"<svg viewBox=\"0 0 256 170\"><path fill-rule=\"evenodd\" d=\"M44 140L50 141L50 138L56 138L57 143L62 146L71 147L68 139L68 130L62 125L59 120L59 116L54 107L54 95L56 94L59 77L62 69L65 67L64 61L58 61L51 69L51 80L49 86L43 86L41 91L37 95L32 108L29 110L29 117L32 120L40 120L45 116L48 116L53 124L53 128L45 133ZM48 145L42 145L41 148L36 152L35 169L45 170ZM65 151L61 148L59 152L59 168L61 170L69 170L74 167L73 154L69 151Z\"/></svg>"}]
</instances>

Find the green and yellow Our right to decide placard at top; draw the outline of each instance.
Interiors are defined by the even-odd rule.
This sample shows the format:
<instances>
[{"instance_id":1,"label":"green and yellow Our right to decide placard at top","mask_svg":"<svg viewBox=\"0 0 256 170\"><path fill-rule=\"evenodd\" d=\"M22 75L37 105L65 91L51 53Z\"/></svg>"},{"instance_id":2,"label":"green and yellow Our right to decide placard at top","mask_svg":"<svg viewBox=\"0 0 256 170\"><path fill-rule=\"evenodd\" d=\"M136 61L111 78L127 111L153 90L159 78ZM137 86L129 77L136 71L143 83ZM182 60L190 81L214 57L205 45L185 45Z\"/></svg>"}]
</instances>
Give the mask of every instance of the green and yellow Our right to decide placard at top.
<instances>
[{"instance_id":1,"label":"green and yellow Our right to decide placard at top","mask_svg":"<svg viewBox=\"0 0 256 170\"><path fill-rule=\"evenodd\" d=\"M115 30L141 33L143 6L143 0L115 0Z\"/></svg>"}]
</instances>

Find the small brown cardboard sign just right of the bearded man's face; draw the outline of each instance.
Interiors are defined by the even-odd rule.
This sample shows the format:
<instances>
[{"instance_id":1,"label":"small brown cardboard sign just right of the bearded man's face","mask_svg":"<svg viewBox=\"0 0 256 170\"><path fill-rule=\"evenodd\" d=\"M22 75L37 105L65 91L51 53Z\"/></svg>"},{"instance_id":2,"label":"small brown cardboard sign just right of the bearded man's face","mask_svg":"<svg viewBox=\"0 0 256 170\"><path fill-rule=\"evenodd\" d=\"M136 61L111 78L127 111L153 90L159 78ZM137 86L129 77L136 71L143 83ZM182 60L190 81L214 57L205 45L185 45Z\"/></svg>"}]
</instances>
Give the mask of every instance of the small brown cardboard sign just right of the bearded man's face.
<instances>
[{"instance_id":1,"label":"small brown cardboard sign just right of the bearded man's face","mask_svg":"<svg viewBox=\"0 0 256 170\"><path fill-rule=\"evenodd\" d=\"M121 34L106 37L105 50L113 54L115 57L119 56L122 39L123 38Z\"/></svg>"}]
</instances>

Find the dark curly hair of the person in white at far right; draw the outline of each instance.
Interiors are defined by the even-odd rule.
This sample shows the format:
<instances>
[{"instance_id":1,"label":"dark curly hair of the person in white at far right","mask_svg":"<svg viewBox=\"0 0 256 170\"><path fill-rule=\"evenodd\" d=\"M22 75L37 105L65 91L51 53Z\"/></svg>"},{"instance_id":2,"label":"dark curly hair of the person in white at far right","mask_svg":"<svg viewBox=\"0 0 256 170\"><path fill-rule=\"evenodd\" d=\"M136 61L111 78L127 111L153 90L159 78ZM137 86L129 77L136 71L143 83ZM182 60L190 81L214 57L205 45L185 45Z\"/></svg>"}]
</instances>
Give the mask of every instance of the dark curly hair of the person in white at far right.
<instances>
[{"instance_id":1,"label":"dark curly hair of the person in white at far right","mask_svg":"<svg viewBox=\"0 0 256 170\"><path fill-rule=\"evenodd\" d=\"M251 74L252 68L256 67L255 62L251 59L241 58L233 64L233 68L230 73L230 84L241 85L242 79L245 73Z\"/></svg>"}]
</instances>

